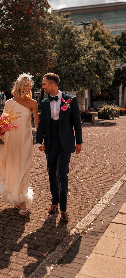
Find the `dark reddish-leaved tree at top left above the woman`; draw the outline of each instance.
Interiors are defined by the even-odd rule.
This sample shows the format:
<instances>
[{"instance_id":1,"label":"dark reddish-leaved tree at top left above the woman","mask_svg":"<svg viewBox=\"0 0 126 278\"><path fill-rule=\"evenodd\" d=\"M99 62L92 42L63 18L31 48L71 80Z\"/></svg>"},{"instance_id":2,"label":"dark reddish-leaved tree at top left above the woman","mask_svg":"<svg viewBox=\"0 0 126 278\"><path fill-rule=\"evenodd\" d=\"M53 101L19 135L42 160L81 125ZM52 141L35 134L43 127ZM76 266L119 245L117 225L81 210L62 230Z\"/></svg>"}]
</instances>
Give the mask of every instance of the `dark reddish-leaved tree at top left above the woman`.
<instances>
[{"instance_id":1,"label":"dark reddish-leaved tree at top left above the woman","mask_svg":"<svg viewBox=\"0 0 126 278\"><path fill-rule=\"evenodd\" d=\"M35 86L43 73L55 67L50 49L47 0L0 1L0 90L10 97L13 80L30 72Z\"/></svg>"}]
</instances>

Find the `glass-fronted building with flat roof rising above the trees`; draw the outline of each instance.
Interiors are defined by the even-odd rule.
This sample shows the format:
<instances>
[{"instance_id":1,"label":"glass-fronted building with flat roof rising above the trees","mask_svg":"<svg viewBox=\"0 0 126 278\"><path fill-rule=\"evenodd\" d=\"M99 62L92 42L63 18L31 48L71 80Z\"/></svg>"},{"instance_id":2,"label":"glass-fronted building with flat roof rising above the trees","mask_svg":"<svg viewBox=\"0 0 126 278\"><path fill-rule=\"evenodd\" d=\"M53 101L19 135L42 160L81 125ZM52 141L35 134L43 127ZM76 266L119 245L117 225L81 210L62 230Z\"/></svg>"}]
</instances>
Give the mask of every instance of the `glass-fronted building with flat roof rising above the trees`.
<instances>
[{"instance_id":1,"label":"glass-fronted building with flat roof rising above the trees","mask_svg":"<svg viewBox=\"0 0 126 278\"><path fill-rule=\"evenodd\" d=\"M63 8L57 10L58 14L71 13L71 21L76 26L80 22L91 22L95 18L104 21L106 28L110 29L114 36L126 29L126 2L98 4Z\"/></svg>"}]
</instances>

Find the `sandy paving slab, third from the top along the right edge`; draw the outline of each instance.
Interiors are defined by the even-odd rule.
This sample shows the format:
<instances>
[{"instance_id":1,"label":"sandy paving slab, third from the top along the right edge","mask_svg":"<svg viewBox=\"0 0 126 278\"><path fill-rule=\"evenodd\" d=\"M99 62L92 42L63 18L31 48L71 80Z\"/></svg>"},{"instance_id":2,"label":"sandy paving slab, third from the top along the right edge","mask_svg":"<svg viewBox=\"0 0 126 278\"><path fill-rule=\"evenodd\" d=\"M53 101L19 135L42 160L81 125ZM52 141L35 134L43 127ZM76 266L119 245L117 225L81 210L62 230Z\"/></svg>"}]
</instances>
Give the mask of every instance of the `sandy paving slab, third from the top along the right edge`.
<instances>
[{"instance_id":1,"label":"sandy paving slab, third from the top along the right edge","mask_svg":"<svg viewBox=\"0 0 126 278\"><path fill-rule=\"evenodd\" d=\"M126 225L110 223L103 236L126 239Z\"/></svg>"}]
</instances>

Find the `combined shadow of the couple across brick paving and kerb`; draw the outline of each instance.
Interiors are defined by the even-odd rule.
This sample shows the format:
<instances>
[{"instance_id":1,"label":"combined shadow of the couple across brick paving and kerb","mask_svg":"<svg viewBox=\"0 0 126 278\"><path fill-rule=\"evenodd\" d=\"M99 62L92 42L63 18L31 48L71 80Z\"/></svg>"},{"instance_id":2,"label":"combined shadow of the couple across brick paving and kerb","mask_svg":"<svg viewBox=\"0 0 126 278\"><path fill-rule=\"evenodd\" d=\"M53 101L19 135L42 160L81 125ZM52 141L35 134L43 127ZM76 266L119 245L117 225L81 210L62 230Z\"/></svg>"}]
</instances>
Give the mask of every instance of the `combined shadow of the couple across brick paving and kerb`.
<instances>
[{"instance_id":1,"label":"combined shadow of the couple across brick paving and kerb","mask_svg":"<svg viewBox=\"0 0 126 278\"><path fill-rule=\"evenodd\" d=\"M58 224L56 223L58 214L59 211L48 215L46 220L42 219L43 225L36 229L34 226L32 227L34 222L32 220L30 222L30 212L22 217L19 215L19 210L14 208L0 211L1 274L15 272L14 275L12 275L13 273L9 274L14 277L21 275L22 278L28 277L48 254L56 249L63 237L68 234L66 231L68 222L59 221ZM26 230L30 224L31 232L27 234ZM33 229L36 230L32 232ZM2 272L3 269L4 272ZM43 272L43 275L46 275L46 269Z\"/></svg>"}]
</instances>

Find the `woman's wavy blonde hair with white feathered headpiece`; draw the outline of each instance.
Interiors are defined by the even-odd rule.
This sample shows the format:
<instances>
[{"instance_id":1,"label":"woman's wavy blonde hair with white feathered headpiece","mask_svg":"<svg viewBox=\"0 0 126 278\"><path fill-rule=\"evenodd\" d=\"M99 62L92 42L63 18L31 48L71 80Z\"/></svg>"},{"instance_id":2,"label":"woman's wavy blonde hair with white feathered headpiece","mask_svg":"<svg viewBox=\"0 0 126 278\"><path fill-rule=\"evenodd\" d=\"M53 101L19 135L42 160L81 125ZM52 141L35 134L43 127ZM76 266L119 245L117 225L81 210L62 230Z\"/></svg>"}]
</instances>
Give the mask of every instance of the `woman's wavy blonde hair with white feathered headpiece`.
<instances>
[{"instance_id":1,"label":"woman's wavy blonde hair with white feathered headpiece","mask_svg":"<svg viewBox=\"0 0 126 278\"><path fill-rule=\"evenodd\" d=\"M30 73L19 74L17 80L14 82L13 89L11 91L12 95L17 97L20 96L21 98L24 98L24 96L26 95L24 88L29 81L31 82L31 88L32 88L34 85L34 81L32 80L32 75ZM29 91L27 96L29 99L32 98L31 90Z\"/></svg>"}]
</instances>

